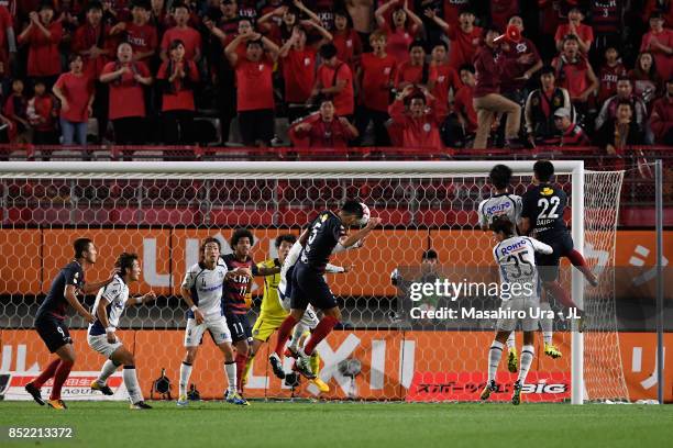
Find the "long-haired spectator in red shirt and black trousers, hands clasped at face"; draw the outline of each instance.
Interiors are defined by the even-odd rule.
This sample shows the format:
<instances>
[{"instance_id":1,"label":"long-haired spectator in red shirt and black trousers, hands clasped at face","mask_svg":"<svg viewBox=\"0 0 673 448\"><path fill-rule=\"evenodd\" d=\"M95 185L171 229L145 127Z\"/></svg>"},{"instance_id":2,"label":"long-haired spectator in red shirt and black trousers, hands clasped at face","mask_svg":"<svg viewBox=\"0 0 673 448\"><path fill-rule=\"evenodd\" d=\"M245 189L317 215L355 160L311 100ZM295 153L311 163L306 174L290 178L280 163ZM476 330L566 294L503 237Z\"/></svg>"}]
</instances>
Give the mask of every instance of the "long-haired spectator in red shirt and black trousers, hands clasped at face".
<instances>
[{"instance_id":1,"label":"long-haired spectator in red shirt and black trousers, hands clasped at face","mask_svg":"<svg viewBox=\"0 0 673 448\"><path fill-rule=\"evenodd\" d=\"M190 145L194 135L194 87L199 81L199 69L192 59L185 57L185 44L180 40L168 46L169 59L162 63L156 79L162 90L164 143Z\"/></svg>"}]
</instances>

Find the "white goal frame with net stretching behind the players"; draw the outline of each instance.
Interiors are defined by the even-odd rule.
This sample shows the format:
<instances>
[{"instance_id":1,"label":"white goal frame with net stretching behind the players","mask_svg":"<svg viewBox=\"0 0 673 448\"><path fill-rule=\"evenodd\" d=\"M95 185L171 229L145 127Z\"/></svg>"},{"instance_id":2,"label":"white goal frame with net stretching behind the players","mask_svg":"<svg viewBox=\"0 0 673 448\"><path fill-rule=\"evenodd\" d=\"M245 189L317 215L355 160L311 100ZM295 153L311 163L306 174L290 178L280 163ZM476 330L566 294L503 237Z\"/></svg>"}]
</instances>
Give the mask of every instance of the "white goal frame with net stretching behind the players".
<instances>
[{"instance_id":1,"label":"white goal frame with net stretching behind the players","mask_svg":"<svg viewBox=\"0 0 673 448\"><path fill-rule=\"evenodd\" d=\"M532 161L504 161L514 171L511 191L530 186ZM543 355L542 336L528 376L528 401L628 400L617 334L614 291L616 224L622 172L585 172L577 161L556 161L555 182L569 194L565 216L575 246L599 276L598 288L584 288L569 266L561 282L584 304L587 326L573 333L553 299L554 344L560 359ZM125 312L119 338L134 352L145 395L165 372L175 399L186 306L179 285L198 261L199 240L216 236L230 253L235 228L253 231L255 262L277 257L278 235L298 235L318 212L335 210L347 198L366 203L384 226L363 247L333 257L353 266L329 275L343 318L318 347L320 378L330 385L324 399L471 401L486 382L488 347L495 321L413 318L417 306L391 284L390 273L427 273L423 251L437 251L433 271L442 278L476 281L493 276L493 239L477 225L477 205L492 194L488 171L495 161L410 163L4 163L0 165L0 324L5 400L27 399L21 388L49 358L32 329L36 309L52 279L73 257L71 243L89 237L98 247L88 281L107 278L122 251L137 253L143 276L132 294L154 291L158 299ZM572 206L571 206L572 202ZM416 272L416 273L415 273ZM258 317L263 279L252 287L251 326ZM93 298L86 298L91 306ZM479 291L460 300L438 298L424 310L496 310L499 300ZM86 325L70 316L77 362L66 399L101 399L88 384L103 359L86 344ZM267 362L276 335L262 346L249 377L249 397L316 397L313 384L290 387ZM517 332L517 346L521 336ZM505 357L504 357L505 359ZM286 369L290 360L285 359ZM123 395L121 380L111 378ZM114 380L118 379L117 382ZM495 400L509 400L516 374L500 365ZM221 399L225 389L222 355L205 336L190 382L201 399ZM48 384L47 384L48 387ZM117 389L115 389L117 387ZM3 389L2 389L3 388ZM573 394L574 392L574 394ZM44 392L43 392L44 394ZM578 396L578 399L577 399Z\"/></svg>"}]
</instances>

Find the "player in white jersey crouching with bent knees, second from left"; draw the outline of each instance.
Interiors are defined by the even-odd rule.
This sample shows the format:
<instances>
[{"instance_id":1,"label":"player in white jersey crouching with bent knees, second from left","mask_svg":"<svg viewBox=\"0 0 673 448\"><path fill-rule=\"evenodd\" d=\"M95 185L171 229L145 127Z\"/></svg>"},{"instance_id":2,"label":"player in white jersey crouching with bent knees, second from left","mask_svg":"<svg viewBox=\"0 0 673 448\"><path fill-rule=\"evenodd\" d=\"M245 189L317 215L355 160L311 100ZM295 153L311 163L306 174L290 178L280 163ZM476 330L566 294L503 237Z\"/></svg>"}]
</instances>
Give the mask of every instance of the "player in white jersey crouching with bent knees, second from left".
<instances>
[{"instance_id":1,"label":"player in white jersey crouching with bent knees, second from left","mask_svg":"<svg viewBox=\"0 0 673 448\"><path fill-rule=\"evenodd\" d=\"M91 390L100 391L104 395L112 395L113 392L107 384L108 378L114 373L119 366L123 365L124 387L129 392L131 408L148 410L152 406L143 401L143 393L135 374L133 354L122 345L115 332L119 327L119 320L125 309L151 302L156 299L156 295L154 292L148 292L140 298L129 299L129 283L137 281L141 276L137 255L121 254L114 267L119 272L110 283L98 291L96 303L93 304L96 321L89 324L87 332L89 347L108 358L98 378L91 382Z\"/></svg>"}]
</instances>

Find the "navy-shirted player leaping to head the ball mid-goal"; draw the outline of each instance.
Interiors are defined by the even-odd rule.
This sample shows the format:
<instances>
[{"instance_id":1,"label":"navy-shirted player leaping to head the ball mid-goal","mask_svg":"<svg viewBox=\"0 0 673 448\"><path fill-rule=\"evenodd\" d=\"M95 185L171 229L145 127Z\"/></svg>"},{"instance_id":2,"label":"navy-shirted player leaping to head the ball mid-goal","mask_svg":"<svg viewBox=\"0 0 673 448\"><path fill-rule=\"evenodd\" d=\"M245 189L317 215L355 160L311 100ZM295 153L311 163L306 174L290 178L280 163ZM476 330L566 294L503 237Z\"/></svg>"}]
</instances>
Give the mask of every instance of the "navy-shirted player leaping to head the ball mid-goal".
<instances>
[{"instance_id":1,"label":"navy-shirted player leaping to head the ball mid-goal","mask_svg":"<svg viewBox=\"0 0 673 448\"><path fill-rule=\"evenodd\" d=\"M364 209L360 202L346 201L338 214L329 210L321 212L310 224L304 250L293 271L290 314L280 324L276 349L269 356L274 371L282 369L280 354L293 327L301 320L310 303L315 309L322 310L323 317L304 349L299 348L295 369L310 380L316 378L310 368L310 356L341 318L336 299L323 277L326 267L336 244L351 247L380 224L380 219L371 217L362 229L346 236L346 228L358 223L363 214Z\"/></svg>"}]
</instances>

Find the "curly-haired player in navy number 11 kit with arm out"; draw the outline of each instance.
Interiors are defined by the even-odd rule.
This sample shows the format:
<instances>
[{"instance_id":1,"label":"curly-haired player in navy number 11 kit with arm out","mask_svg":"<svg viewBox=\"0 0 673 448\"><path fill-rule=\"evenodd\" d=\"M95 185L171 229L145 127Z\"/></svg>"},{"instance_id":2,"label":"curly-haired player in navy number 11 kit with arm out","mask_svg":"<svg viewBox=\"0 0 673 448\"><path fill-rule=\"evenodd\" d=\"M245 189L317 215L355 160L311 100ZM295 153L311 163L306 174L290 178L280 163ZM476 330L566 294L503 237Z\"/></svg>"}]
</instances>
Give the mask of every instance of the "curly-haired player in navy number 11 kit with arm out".
<instances>
[{"instance_id":1,"label":"curly-haired player in navy number 11 kit with arm out","mask_svg":"<svg viewBox=\"0 0 673 448\"><path fill-rule=\"evenodd\" d=\"M260 268L250 256L255 238L247 228L239 228L231 236L233 254L222 256L230 271L239 269L242 273L228 278L224 282L222 306L227 325L231 333L233 345L236 348L236 378L238 392L243 393L243 372L252 345L252 328L247 321L250 309L246 298L250 293L252 278L257 276L273 276L280 272L280 267Z\"/></svg>"}]
</instances>

